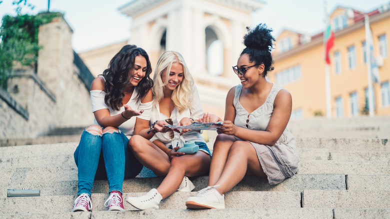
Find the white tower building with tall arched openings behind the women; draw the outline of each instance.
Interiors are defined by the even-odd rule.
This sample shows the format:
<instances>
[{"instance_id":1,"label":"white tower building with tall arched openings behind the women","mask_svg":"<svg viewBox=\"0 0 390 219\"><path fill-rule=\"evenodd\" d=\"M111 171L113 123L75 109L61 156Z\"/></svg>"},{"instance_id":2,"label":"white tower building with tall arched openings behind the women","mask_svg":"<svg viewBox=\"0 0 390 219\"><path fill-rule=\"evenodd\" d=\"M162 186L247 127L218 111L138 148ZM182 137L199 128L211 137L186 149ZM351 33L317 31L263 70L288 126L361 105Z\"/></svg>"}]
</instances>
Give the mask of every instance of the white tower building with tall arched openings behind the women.
<instances>
[{"instance_id":1,"label":"white tower building with tall arched openings behind the women","mask_svg":"<svg viewBox=\"0 0 390 219\"><path fill-rule=\"evenodd\" d=\"M180 52L204 110L223 116L227 91L239 82L231 66L243 49L250 13L262 4L259 0L131 0L119 11L132 18L127 42L144 48L153 67L162 52Z\"/></svg>"}]
</instances>

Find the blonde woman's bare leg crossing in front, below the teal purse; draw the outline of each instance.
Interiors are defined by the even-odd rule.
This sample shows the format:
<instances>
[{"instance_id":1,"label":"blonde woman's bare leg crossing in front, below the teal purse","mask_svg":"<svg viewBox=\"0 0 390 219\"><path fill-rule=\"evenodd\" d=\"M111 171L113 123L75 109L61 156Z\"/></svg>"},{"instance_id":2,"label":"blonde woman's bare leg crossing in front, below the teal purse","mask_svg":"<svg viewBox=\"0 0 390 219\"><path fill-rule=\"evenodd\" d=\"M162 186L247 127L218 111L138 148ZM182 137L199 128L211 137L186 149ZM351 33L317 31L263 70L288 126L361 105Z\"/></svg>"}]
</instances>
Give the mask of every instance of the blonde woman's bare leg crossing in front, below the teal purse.
<instances>
[{"instance_id":1,"label":"blonde woman's bare leg crossing in front, below the teal purse","mask_svg":"<svg viewBox=\"0 0 390 219\"><path fill-rule=\"evenodd\" d=\"M210 159L208 154L199 150L193 154L172 158L168 174L157 187L157 191L162 198L165 198L176 191L184 175L206 175L209 170Z\"/></svg>"}]
</instances>

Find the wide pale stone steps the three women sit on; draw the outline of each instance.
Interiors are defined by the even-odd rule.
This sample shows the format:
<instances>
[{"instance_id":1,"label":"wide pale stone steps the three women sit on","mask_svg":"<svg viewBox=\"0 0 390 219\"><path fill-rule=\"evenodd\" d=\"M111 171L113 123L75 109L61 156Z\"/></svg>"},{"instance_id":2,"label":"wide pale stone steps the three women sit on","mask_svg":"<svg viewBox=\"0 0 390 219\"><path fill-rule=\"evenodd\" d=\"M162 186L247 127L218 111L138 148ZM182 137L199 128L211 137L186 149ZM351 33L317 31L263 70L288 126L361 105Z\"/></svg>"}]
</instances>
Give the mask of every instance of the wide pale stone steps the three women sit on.
<instances>
[{"instance_id":1,"label":"wide pale stone steps the three women sit on","mask_svg":"<svg viewBox=\"0 0 390 219\"><path fill-rule=\"evenodd\" d=\"M214 136L207 144L212 148ZM175 192L158 210L108 212L106 180L92 189L92 212L70 212L77 192L77 142L0 147L0 218L390 218L390 142L378 138L298 137L298 173L277 185L246 176L225 194L225 209L187 210L185 199L207 186L190 178L193 192ZM161 182L143 169L125 179L123 198ZM37 197L6 197L6 189L40 189Z\"/></svg>"}]
</instances>

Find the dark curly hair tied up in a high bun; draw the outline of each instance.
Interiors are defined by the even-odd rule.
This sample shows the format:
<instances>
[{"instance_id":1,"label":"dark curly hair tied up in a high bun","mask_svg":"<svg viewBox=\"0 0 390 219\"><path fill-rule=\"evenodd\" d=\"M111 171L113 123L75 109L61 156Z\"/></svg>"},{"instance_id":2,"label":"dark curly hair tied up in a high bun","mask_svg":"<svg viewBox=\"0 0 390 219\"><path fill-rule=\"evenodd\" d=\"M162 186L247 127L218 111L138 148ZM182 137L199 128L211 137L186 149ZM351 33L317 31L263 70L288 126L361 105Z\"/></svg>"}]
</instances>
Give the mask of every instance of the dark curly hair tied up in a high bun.
<instances>
[{"instance_id":1,"label":"dark curly hair tied up in a high bun","mask_svg":"<svg viewBox=\"0 0 390 219\"><path fill-rule=\"evenodd\" d=\"M271 35L272 29L268 28L265 23L258 24L254 29L246 27L247 33L244 35L244 48L240 55L248 54L249 61L255 64L264 64L263 76L268 71L273 70L273 60L271 56L271 49L273 48L273 41L275 38Z\"/></svg>"}]
</instances>

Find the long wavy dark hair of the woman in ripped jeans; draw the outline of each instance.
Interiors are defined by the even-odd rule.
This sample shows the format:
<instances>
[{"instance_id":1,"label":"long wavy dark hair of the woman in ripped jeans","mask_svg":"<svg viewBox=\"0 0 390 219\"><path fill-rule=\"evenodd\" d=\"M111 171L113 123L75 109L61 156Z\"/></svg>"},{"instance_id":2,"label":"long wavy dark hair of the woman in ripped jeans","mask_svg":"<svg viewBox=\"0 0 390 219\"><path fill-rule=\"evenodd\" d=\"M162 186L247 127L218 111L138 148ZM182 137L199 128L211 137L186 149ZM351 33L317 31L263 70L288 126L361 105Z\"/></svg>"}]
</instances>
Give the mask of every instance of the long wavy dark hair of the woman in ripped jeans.
<instances>
[{"instance_id":1,"label":"long wavy dark hair of the woman in ripped jeans","mask_svg":"<svg viewBox=\"0 0 390 219\"><path fill-rule=\"evenodd\" d=\"M105 91L107 93L104 97L104 102L112 109L119 110L123 105L123 90L129 81L128 73L130 70L134 70L134 59L138 55L146 59L146 72L136 86L138 91L136 98L140 100L153 86L153 80L150 78L151 64L146 51L136 45L123 46L109 61L108 68L103 71Z\"/></svg>"}]
</instances>

